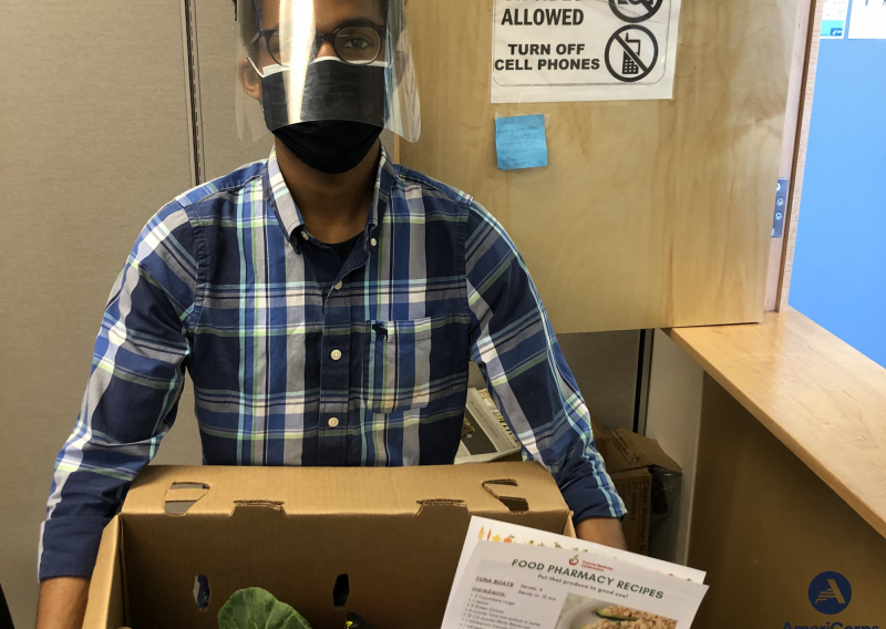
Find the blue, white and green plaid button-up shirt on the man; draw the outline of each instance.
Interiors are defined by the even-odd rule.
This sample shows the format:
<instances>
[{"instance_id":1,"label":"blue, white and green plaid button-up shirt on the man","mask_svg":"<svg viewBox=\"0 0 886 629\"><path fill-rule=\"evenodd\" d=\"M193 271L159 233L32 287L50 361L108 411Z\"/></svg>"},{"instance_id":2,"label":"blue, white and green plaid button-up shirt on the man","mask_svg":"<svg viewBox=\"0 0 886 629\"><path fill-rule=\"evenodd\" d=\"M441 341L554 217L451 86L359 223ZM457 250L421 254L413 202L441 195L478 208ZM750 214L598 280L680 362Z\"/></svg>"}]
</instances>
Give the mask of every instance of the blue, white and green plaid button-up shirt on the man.
<instances>
[{"instance_id":1,"label":"blue, white and green plaid button-up shirt on the man","mask_svg":"<svg viewBox=\"0 0 886 629\"><path fill-rule=\"evenodd\" d=\"M473 360L576 520L625 514L538 292L483 207L382 153L363 237L333 278L321 255L274 153L148 221L56 460L41 578L91 575L186 370L207 464L427 465L455 457Z\"/></svg>"}]
</instances>

